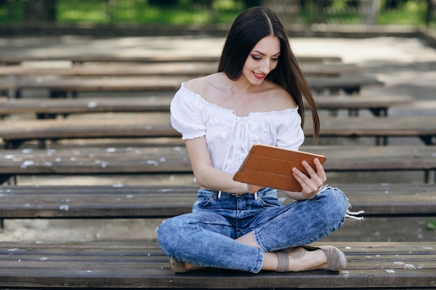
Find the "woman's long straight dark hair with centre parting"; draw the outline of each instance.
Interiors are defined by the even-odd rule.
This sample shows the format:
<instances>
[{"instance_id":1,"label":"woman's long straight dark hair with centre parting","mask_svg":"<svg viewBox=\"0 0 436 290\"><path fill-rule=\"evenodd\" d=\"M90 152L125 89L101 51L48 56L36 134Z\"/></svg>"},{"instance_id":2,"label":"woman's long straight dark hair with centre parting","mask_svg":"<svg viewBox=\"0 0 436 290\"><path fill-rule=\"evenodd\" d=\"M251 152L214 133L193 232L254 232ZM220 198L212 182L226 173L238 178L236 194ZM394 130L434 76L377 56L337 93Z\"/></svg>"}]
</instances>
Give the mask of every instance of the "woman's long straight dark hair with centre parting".
<instances>
[{"instance_id":1,"label":"woman's long straight dark hair with centre parting","mask_svg":"<svg viewBox=\"0 0 436 290\"><path fill-rule=\"evenodd\" d=\"M267 75L267 79L274 81L287 90L298 105L298 113L304 127L303 97L311 108L313 118L313 142L318 141L320 120L316 111L316 104L309 85L304 79L297 59L290 49L288 36L279 18L266 7L252 7L244 10L233 22L228 31L224 49L219 60L218 72L236 81L242 74L242 68L253 47L268 35L274 35L280 41L280 56L277 67Z\"/></svg>"}]
</instances>

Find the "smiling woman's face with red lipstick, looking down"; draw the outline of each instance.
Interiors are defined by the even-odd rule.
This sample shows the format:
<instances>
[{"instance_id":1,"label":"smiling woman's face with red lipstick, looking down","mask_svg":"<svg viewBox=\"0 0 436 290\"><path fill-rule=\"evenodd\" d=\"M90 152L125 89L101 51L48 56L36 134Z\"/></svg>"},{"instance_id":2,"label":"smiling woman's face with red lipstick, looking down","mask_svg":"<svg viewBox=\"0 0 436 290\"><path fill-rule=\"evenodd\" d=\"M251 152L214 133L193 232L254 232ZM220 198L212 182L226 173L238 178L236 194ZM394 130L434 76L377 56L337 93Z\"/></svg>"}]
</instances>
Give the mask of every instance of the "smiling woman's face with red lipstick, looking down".
<instances>
[{"instance_id":1,"label":"smiling woman's face with red lipstick, looking down","mask_svg":"<svg viewBox=\"0 0 436 290\"><path fill-rule=\"evenodd\" d=\"M265 76L277 67L279 55L279 38L273 35L265 36L250 51L242 68L242 75L254 85L262 83Z\"/></svg>"}]
</instances>

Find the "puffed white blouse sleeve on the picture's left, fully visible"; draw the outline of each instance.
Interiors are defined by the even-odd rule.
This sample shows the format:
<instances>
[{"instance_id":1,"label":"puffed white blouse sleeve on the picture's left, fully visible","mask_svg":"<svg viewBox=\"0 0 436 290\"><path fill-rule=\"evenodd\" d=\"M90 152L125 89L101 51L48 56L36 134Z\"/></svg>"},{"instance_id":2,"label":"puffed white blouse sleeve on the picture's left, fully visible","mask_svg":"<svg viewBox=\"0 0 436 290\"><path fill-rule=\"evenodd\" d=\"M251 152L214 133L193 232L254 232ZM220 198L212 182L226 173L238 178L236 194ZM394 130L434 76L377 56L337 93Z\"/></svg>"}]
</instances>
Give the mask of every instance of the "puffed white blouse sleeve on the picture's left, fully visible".
<instances>
[{"instance_id":1,"label":"puffed white blouse sleeve on the picture's left, fully visible","mask_svg":"<svg viewBox=\"0 0 436 290\"><path fill-rule=\"evenodd\" d=\"M183 140L205 135L206 127L200 106L199 97L182 84L171 101L170 111L171 125L182 134Z\"/></svg>"}]
</instances>

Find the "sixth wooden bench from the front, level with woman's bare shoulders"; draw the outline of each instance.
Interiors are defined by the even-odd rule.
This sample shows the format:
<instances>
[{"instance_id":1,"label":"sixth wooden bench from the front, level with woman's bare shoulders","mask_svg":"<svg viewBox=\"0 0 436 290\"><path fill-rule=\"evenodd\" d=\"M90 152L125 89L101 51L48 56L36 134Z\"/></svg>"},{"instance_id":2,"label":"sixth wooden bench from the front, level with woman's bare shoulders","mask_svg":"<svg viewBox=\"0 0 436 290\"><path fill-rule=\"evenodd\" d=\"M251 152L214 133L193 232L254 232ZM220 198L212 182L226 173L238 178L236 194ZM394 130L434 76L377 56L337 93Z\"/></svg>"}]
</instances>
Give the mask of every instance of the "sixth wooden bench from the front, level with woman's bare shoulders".
<instances>
[{"instance_id":1,"label":"sixth wooden bench from the front, level with woman's bare shoulders","mask_svg":"<svg viewBox=\"0 0 436 290\"><path fill-rule=\"evenodd\" d=\"M36 76L22 79L1 79L0 90L8 90L9 97L21 97L22 90L49 90L50 97L65 97L70 92L117 92L177 90L188 76L106 76L106 77L59 77ZM383 83L368 74L344 74L336 77L311 76L309 86L317 92L330 90L336 94L344 90L348 94L359 92L363 86L381 86ZM13 92L13 93L12 93ZM11 95L12 94L12 95Z\"/></svg>"}]
</instances>

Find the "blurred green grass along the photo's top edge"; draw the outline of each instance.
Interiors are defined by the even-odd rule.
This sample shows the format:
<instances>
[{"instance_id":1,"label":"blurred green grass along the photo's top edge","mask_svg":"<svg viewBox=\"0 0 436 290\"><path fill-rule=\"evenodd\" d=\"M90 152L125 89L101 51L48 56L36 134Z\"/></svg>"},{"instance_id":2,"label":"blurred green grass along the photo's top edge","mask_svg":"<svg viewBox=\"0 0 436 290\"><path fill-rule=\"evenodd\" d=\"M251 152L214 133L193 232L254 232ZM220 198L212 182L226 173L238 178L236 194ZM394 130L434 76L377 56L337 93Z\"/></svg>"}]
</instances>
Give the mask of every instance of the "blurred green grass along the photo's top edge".
<instances>
[{"instance_id":1,"label":"blurred green grass along the photo's top edge","mask_svg":"<svg viewBox=\"0 0 436 290\"><path fill-rule=\"evenodd\" d=\"M22 10L25 0L8 0L0 6L0 22L22 22ZM381 11L377 24L405 24L423 26L426 14L426 1L409 0L397 10ZM101 0L57 0L57 19L59 22L87 22L92 24L132 23L132 24L231 24L244 9L237 0L215 1L215 17L201 6L191 6L189 1L180 1L179 7L162 10L150 6L148 0L117 0L113 7ZM323 15L326 23L360 24L360 16L355 10L345 9L344 1L336 1L334 13ZM315 22L313 9L300 13L302 23ZM436 24L436 16L431 24Z\"/></svg>"}]
</instances>

